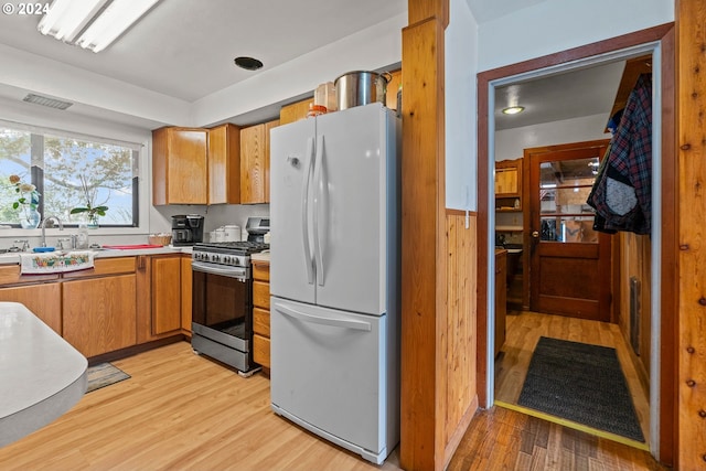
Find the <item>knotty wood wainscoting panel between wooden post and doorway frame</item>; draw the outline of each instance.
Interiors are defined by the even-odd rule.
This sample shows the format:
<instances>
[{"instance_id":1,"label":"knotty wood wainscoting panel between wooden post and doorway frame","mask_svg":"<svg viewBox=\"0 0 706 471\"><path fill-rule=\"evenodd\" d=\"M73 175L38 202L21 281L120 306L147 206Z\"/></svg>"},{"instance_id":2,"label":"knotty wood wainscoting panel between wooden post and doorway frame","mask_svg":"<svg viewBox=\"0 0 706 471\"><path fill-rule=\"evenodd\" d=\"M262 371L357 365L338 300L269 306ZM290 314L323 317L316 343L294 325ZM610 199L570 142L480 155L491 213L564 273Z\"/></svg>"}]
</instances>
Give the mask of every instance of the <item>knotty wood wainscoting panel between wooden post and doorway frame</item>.
<instances>
[{"instance_id":1,"label":"knotty wood wainscoting panel between wooden post and doorway frame","mask_svg":"<svg viewBox=\"0 0 706 471\"><path fill-rule=\"evenodd\" d=\"M475 214L447 211L448 263L446 312L445 456L450 459L478 410L477 342L477 236Z\"/></svg>"}]
</instances>

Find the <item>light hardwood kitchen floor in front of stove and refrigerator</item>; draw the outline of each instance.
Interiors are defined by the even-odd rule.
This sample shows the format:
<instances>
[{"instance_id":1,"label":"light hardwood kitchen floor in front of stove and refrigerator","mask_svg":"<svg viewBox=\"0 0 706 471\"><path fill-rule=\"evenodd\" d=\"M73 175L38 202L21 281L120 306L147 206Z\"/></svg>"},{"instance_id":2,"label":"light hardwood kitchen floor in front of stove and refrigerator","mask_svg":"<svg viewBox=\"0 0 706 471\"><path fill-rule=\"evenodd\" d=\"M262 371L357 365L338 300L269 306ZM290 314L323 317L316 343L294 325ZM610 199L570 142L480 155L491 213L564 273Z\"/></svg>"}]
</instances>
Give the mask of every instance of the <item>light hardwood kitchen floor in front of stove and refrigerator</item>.
<instances>
[{"instance_id":1,"label":"light hardwood kitchen floor in front of stove and refrigerator","mask_svg":"<svg viewBox=\"0 0 706 471\"><path fill-rule=\"evenodd\" d=\"M113 362L131 378L0 449L0 470L398 470L270 410L269 379L243 378L179 342Z\"/></svg>"}]
</instances>

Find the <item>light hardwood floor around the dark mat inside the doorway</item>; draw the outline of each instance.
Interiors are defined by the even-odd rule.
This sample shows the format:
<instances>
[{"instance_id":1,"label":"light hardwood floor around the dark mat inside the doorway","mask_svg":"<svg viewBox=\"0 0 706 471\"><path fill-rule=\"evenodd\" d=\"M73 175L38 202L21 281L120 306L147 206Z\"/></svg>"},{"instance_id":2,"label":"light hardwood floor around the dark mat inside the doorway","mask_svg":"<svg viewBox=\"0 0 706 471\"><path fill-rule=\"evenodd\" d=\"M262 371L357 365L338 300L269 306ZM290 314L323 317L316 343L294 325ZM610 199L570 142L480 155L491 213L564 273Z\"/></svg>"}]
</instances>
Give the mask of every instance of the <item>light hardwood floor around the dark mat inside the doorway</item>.
<instances>
[{"instance_id":1,"label":"light hardwood floor around the dark mat inside the doorway","mask_svg":"<svg viewBox=\"0 0 706 471\"><path fill-rule=\"evenodd\" d=\"M617 324L563 315L517 312L506 318L506 340L495 358L495 399L517 404L532 353L539 336L611 346L618 353L645 441L650 440L650 404Z\"/></svg>"}]
</instances>

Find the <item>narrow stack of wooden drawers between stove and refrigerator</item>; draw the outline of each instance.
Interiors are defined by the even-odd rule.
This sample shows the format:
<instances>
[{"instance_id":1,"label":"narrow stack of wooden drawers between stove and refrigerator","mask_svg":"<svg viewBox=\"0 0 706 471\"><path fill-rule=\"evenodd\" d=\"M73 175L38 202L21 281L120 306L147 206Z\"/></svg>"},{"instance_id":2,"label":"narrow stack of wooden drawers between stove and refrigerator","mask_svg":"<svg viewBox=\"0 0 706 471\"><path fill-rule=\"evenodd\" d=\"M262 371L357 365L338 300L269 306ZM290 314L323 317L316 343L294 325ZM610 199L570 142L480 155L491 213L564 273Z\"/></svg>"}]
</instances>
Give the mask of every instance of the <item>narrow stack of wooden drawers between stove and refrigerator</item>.
<instances>
[{"instance_id":1,"label":"narrow stack of wooden drawers between stove and refrigerator","mask_svg":"<svg viewBox=\"0 0 706 471\"><path fill-rule=\"evenodd\" d=\"M253 360L266 372L270 367L269 263L253 261Z\"/></svg>"}]
</instances>

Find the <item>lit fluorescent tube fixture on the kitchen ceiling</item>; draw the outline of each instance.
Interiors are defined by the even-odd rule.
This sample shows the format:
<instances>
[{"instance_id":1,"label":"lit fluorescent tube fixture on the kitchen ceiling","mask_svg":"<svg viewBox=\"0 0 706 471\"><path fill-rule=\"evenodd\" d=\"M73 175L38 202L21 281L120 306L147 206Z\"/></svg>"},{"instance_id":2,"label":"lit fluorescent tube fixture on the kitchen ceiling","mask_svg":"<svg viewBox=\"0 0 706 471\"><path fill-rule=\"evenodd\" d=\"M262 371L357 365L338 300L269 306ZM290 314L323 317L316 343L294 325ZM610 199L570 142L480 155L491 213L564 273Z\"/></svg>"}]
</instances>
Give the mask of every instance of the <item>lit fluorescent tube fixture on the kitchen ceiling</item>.
<instances>
[{"instance_id":1,"label":"lit fluorescent tube fixture on the kitchen ceiling","mask_svg":"<svg viewBox=\"0 0 706 471\"><path fill-rule=\"evenodd\" d=\"M54 0L38 29L93 52L106 49L159 0ZM78 38L78 39L76 39Z\"/></svg>"}]
</instances>

